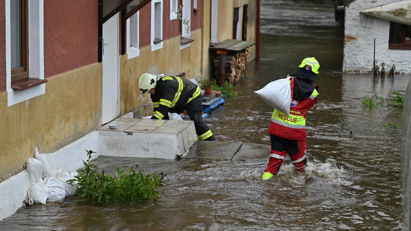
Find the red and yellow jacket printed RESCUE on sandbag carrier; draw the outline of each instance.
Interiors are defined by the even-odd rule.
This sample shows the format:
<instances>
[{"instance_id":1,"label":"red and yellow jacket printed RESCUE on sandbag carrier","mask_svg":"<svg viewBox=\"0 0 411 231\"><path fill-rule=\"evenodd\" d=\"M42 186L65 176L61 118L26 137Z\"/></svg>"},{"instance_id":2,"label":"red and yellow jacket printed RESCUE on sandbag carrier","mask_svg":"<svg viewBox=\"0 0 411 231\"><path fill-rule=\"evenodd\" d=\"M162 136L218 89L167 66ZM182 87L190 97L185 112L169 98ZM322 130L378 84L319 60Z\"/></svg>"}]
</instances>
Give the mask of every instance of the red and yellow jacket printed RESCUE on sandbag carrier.
<instances>
[{"instance_id":1,"label":"red and yellow jacket printed RESCUE on sandbag carrier","mask_svg":"<svg viewBox=\"0 0 411 231\"><path fill-rule=\"evenodd\" d=\"M314 88L312 94L304 100L293 99L294 78L290 78L291 105L290 117L274 109L271 122L268 126L268 133L291 140L305 140L307 133L305 130L305 118L308 109L317 102L318 91Z\"/></svg>"}]
</instances>

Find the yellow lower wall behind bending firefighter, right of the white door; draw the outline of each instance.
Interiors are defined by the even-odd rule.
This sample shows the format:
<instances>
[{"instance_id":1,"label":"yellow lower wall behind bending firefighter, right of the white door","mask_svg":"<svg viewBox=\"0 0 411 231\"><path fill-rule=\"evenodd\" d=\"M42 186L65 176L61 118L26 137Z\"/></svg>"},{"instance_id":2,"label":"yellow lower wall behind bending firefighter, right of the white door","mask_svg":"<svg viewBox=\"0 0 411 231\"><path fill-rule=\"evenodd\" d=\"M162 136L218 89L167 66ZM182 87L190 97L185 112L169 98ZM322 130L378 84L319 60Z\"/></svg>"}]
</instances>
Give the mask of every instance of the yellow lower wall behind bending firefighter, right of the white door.
<instances>
[{"instance_id":1,"label":"yellow lower wall behind bending firefighter, right of the white door","mask_svg":"<svg viewBox=\"0 0 411 231\"><path fill-rule=\"evenodd\" d=\"M140 49L140 55L127 59L120 56L120 116L150 102L150 96L142 96L139 78L143 73L175 75L185 72L186 79L201 76L201 29L191 32L190 46L180 50L180 37L163 42L163 48L151 51L151 46Z\"/></svg>"}]
</instances>

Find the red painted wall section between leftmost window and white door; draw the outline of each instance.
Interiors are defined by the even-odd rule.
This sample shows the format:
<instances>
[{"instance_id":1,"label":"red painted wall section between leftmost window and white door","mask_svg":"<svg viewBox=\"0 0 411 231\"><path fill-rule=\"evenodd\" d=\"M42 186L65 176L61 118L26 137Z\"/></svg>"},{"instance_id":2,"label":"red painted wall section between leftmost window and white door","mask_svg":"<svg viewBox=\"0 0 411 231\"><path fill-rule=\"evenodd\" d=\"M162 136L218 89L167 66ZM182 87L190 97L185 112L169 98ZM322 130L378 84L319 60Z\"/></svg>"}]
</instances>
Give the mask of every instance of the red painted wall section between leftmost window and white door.
<instances>
[{"instance_id":1,"label":"red painted wall section between leftmost window and white door","mask_svg":"<svg viewBox=\"0 0 411 231\"><path fill-rule=\"evenodd\" d=\"M97 62L98 0L44 1L44 78Z\"/></svg>"}]
</instances>

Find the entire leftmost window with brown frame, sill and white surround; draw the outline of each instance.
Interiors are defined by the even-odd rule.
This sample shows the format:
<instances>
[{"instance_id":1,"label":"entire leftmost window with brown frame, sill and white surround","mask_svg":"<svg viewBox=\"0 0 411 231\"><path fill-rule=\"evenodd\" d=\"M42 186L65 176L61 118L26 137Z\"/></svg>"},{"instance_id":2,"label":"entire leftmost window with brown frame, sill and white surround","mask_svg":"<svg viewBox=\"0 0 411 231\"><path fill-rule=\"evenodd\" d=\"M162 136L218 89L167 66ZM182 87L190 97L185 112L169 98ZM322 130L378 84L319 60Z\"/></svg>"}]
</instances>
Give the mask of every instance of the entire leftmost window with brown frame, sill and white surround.
<instances>
[{"instance_id":1,"label":"entire leftmost window with brown frame, sill and white surround","mask_svg":"<svg viewBox=\"0 0 411 231\"><path fill-rule=\"evenodd\" d=\"M43 6L44 0L5 0L7 106L46 92Z\"/></svg>"}]
</instances>

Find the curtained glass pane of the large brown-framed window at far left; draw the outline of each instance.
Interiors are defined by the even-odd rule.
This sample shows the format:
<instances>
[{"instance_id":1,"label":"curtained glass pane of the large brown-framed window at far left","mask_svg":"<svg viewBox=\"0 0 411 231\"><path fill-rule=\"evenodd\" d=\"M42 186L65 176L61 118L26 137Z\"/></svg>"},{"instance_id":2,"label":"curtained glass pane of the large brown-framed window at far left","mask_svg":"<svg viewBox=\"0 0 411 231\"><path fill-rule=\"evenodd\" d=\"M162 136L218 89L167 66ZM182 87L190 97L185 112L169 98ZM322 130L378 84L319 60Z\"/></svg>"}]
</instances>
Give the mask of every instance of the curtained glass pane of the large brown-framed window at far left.
<instances>
[{"instance_id":1,"label":"curtained glass pane of the large brown-framed window at far left","mask_svg":"<svg viewBox=\"0 0 411 231\"><path fill-rule=\"evenodd\" d=\"M21 0L10 1L12 69L21 67Z\"/></svg>"}]
</instances>

